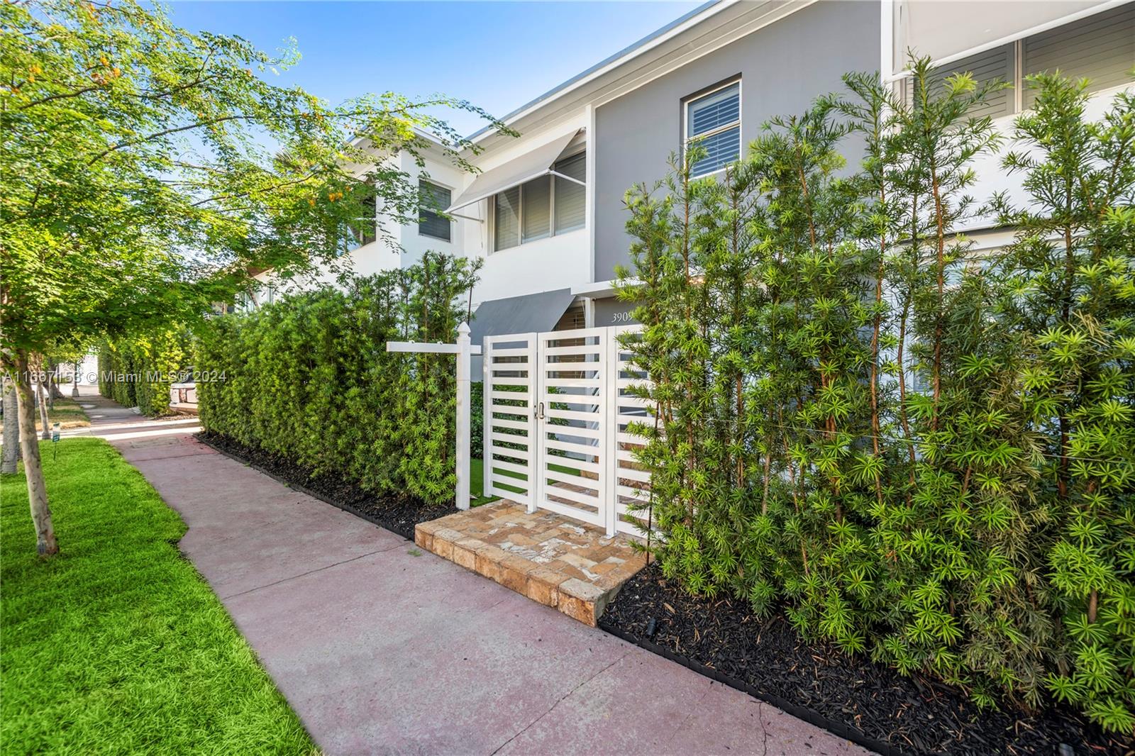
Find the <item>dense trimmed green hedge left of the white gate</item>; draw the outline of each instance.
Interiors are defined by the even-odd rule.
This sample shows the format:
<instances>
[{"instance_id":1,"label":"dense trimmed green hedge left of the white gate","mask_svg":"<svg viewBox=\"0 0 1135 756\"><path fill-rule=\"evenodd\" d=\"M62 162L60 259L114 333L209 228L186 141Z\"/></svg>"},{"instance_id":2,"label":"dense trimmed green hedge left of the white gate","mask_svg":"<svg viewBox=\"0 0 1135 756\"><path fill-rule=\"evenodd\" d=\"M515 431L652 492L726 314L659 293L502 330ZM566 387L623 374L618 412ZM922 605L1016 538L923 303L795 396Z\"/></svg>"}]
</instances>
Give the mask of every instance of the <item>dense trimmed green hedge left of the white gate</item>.
<instances>
[{"instance_id":1,"label":"dense trimmed green hedge left of the white gate","mask_svg":"<svg viewBox=\"0 0 1135 756\"><path fill-rule=\"evenodd\" d=\"M210 320L196 351L202 426L370 492L452 501L455 360L386 342L454 342L476 270L429 253L346 292Z\"/></svg>"}]
</instances>

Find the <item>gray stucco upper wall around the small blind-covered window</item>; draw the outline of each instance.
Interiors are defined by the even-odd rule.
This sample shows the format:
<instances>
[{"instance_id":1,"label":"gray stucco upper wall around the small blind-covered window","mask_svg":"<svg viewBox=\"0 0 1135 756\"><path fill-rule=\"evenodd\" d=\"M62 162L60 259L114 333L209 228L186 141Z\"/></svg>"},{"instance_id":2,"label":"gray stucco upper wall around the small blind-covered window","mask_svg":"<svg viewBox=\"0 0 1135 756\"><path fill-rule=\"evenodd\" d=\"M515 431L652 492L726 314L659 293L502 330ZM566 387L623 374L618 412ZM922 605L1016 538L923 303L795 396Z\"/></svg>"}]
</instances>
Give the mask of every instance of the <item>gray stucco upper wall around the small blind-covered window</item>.
<instances>
[{"instance_id":1,"label":"gray stucco upper wall around the small blind-covered window","mask_svg":"<svg viewBox=\"0 0 1135 756\"><path fill-rule=\"evenodd\" d=\"M681 146L682 98L740 74L747 145L772 116L801 112L840 90L847 72L877 70L878 34L877 1L821 0L598 108L595 279L630 262L623 195L665 175Z\"/></svg>"}]
</instances>

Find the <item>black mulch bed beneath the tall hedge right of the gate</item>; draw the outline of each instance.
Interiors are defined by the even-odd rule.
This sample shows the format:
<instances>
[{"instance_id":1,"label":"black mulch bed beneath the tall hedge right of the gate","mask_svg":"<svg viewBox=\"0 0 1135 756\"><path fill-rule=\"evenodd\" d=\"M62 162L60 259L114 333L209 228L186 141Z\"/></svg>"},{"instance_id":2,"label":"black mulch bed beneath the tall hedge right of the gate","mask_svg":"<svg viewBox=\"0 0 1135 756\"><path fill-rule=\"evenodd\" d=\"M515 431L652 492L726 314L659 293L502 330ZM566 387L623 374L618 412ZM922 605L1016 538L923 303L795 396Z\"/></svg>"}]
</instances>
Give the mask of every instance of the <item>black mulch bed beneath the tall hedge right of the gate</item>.
<instances>
[{"instance_id":1,"label":"black mulch bed beneath the tall hedge right of the gate","mask_svg":"<svg viewBox=\"0 0 1135 756\"><path fill-rule=\"evenodd\" d=\"M689 596L654 564L623 585L599 627L883 754L1135 753L1070 713L983 712L939 682L806 642L782 615Z\"/></svg>"}]
</instances>

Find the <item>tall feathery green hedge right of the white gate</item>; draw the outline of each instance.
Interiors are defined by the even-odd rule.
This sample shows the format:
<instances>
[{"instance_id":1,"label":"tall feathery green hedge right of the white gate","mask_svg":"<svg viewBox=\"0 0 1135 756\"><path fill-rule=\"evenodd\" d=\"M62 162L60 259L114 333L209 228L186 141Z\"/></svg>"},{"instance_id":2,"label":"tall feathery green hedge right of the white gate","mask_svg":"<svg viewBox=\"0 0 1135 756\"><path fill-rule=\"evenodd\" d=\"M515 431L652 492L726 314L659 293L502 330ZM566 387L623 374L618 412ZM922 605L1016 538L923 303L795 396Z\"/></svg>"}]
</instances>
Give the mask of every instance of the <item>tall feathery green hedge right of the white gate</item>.
<instances>
[{"instance_id":1,"label":"tall feathery green hedge right of the white gate","mask_svg":"<svg viewBox=\"0 0 1135 756\"><path fill-rule=\"evenodd\" d=\"M638 514L692 593L1130 732L1135 96L1087 123L1085 84L1033 82L1004 157L1028 203L998 199L1017 237L978 253L956 229L991 90L926 75L911 106L848 76L724 175L628 194Z\"/></svg>"}]
</instances>

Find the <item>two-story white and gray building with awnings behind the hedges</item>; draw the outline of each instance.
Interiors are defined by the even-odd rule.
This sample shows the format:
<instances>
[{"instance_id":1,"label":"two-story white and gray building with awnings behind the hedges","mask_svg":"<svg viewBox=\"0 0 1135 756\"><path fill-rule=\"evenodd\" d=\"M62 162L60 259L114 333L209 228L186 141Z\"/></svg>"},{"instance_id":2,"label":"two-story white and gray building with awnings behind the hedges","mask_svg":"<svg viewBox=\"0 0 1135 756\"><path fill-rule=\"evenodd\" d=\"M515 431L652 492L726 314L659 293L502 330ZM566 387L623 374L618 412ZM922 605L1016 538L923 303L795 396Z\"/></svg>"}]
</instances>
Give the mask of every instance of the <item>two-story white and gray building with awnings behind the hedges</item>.
<instances>
[{"instance_id":1,"label":"two-story white and gray building with awnings behind the hedges","mask_svg":"<svg viewBox=\"0 0 1135 756\"><path fill-rule=\"evenodd\" d=\"M460 173L440 150L428 152L429 190L454 219L427 212L397 228L401 251L371 237L347 254L360 275L410 266L427 249L482 258L474 342L628 322L630 308L612 296L612 279L629 262L630 186L661 178L670 153L693 136L711 153L697 173L721 170L764 121L801 112L839 90L847 72L880 70L901 93L911 49L944 73L1012 82L987 107L1001 129L1029 106L1023 77L1041 70L1091 78L1092 107L1102 112L1130 86L1135 2L709 2L506 116L519 138L473 135L481 153L469 159L481 173ZM420 173L409 156L393 159ZM999 158L975 167L978 199L1001 190L1020 196ZM978 245L1006 235L990 232Z\"/></svg>"}]
</instances>

